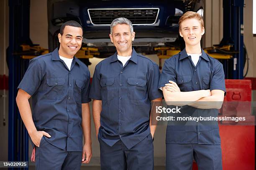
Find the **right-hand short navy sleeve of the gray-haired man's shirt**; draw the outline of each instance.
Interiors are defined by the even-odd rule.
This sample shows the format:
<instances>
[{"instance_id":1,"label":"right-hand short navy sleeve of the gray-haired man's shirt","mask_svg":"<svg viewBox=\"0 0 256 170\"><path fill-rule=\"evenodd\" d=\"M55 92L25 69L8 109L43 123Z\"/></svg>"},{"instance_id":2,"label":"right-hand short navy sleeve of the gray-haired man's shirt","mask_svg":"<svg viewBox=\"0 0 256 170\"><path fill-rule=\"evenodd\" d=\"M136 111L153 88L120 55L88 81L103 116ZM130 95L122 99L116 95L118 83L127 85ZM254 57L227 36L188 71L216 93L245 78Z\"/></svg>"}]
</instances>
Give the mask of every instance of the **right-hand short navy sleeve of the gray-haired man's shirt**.
<instances>
[{"instance_id":1,"label":"right-hand short navy sleeve of the gray-haired man's shirt","mask_svg":"<svg viewBox=\"0 0 256 170\"><path fill-rule=\"evenodd\" d=\"M153 65L153 68L149 71L148 75L148 98L149 100L154 100L157 98L162 98L163 94L158 88L158 82L160 78L160 71L157 64Z\"/></svg>"}]
</instances>

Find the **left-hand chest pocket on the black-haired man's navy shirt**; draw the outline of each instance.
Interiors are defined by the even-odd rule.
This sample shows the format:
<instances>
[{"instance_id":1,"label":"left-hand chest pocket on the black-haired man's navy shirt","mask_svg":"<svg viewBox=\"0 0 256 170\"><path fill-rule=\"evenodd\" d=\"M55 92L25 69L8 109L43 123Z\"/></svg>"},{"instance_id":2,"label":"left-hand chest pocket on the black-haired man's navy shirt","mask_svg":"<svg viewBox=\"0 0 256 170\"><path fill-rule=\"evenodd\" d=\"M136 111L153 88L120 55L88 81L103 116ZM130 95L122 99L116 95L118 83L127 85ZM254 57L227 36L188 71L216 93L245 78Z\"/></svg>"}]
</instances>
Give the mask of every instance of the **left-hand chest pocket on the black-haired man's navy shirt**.
<instances>
[{"instance_id":1,"label":"left-hand chest pocket on the black-haired man's navy shirt","mask_svg":"<svg viewBox=\"0 0 256 170\"><path fill-rule=\"evenodd\" d=\"M64 78L47 78L46 83L48 99L63 99L67 92Z\"/></svg>"}]
</instances>

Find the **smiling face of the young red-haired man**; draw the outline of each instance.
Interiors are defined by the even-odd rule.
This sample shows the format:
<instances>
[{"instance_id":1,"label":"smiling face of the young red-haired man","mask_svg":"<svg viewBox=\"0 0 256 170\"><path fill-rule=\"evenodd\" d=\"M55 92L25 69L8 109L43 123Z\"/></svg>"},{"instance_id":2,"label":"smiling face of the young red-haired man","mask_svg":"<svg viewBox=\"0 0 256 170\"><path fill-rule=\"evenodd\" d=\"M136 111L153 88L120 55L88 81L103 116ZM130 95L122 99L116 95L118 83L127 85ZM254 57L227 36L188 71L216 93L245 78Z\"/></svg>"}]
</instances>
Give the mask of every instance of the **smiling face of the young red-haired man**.
<instances>
[{"instance_id":1,"label":"smiling face of the young red-haired man","mask_svg":"<svg viewBox=\"0 0 256 170\"><path fill-rule=\"evenodd\" d=\"M202 35L205 28L202 28L200 20L196 18L188 18L182 21L179 35L183 37L186 47L200 45Z\"/></svg>"}]
</instances>

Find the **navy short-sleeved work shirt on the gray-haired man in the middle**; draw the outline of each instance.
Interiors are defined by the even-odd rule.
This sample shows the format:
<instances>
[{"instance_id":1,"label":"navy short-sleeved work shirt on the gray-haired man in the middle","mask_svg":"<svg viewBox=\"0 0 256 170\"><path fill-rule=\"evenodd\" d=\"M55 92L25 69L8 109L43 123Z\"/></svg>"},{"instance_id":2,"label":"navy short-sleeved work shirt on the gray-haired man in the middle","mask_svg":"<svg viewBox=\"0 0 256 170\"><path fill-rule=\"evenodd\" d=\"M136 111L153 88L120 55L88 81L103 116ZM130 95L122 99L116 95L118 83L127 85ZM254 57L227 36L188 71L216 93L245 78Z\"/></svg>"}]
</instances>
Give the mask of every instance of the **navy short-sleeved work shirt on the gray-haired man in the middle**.
<instances>
[{"instance_id":1,"label":"navy short-sleeved work shirt on the gray-haired man in the middle","mask_svg":"<svg viewBox=\"0 0 256 170\"><path fill-rule=\"evenodd\" d=\"M151 100L162 97L158 65L133 49L123 66L114 55L95 67L90 98L102 100L98 138L108 145L122 140L130 149L150 134Z\"/></svg>"}]
</instances>

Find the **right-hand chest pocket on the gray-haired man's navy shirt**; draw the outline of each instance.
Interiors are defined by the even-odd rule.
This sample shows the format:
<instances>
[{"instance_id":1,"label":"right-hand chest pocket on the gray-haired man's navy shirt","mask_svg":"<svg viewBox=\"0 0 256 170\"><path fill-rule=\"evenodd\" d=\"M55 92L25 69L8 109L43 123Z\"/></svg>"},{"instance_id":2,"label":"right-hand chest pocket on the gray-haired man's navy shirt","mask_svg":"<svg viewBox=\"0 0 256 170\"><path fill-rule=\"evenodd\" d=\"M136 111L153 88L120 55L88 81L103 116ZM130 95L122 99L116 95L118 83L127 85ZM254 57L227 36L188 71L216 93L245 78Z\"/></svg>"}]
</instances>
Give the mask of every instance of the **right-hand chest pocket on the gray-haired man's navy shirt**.
<instances>
[{"instance_id":1,"label":"right-hand chest pocket on the gray-haired man's navy shirt","mask_svg":"<svg viewBox=\"0 0 256 170\"><path fill-rule=\"evenodd\" d=\"M147 81L141 78L130 77L127 79L128 99L142 100L147 97Z\"/></svg>"}]
</instances>

